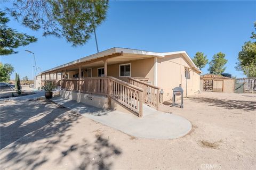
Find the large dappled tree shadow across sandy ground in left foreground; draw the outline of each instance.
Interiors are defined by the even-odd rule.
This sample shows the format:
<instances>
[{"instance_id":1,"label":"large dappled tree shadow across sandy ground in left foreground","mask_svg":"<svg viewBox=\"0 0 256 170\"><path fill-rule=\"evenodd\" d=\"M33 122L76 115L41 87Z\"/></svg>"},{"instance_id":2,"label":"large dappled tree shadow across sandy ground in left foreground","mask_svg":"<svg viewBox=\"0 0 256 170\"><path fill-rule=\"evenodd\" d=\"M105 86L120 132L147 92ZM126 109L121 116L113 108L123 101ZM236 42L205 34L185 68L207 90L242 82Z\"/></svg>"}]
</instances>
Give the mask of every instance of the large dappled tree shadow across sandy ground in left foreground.
<instances>
[{"instance_id":1,"label":"large dappled tree shadow across sandy ground in left foreground","mask_svg":"<svg viewBox=\"0 0 256 170\"><path fill-rule=\"evenodd\" d=\"M110 169L113 162L109 158L120 155L121 150L101 134L95 135L93 141L87 140L86 135L82 140L73 140L74 134L68 132L81 118L50 101L4 105L1 107L2 168L38 169L49 162L61 167L68 162L74 163L73 169Z\"/></svg>"}]
</instances>

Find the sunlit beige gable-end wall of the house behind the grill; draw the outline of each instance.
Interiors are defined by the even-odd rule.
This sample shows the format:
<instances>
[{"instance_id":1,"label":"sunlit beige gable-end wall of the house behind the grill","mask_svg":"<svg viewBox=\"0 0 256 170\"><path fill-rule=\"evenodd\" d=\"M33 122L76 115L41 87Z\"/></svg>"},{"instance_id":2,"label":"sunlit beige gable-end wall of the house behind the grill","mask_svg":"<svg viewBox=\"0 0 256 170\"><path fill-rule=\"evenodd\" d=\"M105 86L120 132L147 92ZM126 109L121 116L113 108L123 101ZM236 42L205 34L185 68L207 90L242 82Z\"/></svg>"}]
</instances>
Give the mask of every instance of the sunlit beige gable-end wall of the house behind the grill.
<instances>
[{"instance_id":1,"label":"sunlit beige gable-end wall of the house behind the grill","mask_svg":"<svg viewBox=\"0 0 256 170\"><path fill-rule=\"evenodd\" d=\"M181 54L157 58L157 86L164 90L163 101L172 99L172 89L181 84L186 96L185 67L189 69L190 79L187 80L187 95L193 95L199 90L200 75L191 70Z\"/></svg>"}]
</instances>

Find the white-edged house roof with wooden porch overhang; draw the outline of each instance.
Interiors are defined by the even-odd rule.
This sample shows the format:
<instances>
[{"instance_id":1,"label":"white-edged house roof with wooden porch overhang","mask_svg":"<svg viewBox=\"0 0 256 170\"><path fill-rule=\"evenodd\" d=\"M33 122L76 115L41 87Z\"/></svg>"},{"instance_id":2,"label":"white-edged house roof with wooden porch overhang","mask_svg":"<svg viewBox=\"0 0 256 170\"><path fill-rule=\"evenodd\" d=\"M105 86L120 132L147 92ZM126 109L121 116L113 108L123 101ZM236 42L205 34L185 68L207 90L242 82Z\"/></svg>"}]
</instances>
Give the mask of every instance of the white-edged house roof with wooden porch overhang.
<instances>
[{"instance_id":1,"label":"white-edged house roof with wooden porch overhang","mask_svg":"<svg viewBox=\"0 0 256 170\"><path fill-rule=\"evenodd\" d=\"M196 65L194 64L194 62L191 60L191 58L187 55L185 51L156 53L156 52L149 52L145 50L114 47L114 48L104 50L100 53L89 55L89 56L80 58L78 60L63 64L57 67L53 67L52 69L43 71L41 74L70 68L82 63L88 66L99 66L103 64L102 62L103 57L109 58L108 64L115 64L115 63L126 62L126 61L141 60L144 58L164 57L166 55L173 55L173 54L182 54L186 58L186 60L190 63L190 65L193 67L193 69L196 69ZM198 71L201 72L200 70Z\"/></svg>"}]
</instances>

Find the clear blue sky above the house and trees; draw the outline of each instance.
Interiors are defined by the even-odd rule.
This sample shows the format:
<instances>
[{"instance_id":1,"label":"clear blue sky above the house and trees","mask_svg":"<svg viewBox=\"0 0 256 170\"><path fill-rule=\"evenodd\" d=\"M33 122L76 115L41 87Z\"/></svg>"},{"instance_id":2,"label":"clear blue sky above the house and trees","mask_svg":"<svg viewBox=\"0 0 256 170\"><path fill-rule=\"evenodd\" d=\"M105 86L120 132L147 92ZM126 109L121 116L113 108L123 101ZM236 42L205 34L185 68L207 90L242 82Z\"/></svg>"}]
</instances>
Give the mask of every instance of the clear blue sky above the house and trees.
<instances>
[{"instance_id":1,"label":"clear blue sky above the house and trees","mask_svg":"<svg viewBox=\"0 0 256 170\"><path fill-rule=\"evenodd\" d=\"M1 3L1 9L11 5ZM37 43L18 48L18 54L1 56L1 62L12 64L21 78L33 77L33 56L26 49L35 53L42 71L97 53L93 35L87 44L72 47L63 38L42 37L42 31L31 31L10 19L9 27L38 38ZM110 1L107 19L97 28L97 38L100 51L112 47L153 52L186 50L190 57L203 52L209 61L222 52L228 60L225 72L239 78L244 75L234 66L242 45L250 40L254 21L255 1Z\"/></svg>"}]
</instances>

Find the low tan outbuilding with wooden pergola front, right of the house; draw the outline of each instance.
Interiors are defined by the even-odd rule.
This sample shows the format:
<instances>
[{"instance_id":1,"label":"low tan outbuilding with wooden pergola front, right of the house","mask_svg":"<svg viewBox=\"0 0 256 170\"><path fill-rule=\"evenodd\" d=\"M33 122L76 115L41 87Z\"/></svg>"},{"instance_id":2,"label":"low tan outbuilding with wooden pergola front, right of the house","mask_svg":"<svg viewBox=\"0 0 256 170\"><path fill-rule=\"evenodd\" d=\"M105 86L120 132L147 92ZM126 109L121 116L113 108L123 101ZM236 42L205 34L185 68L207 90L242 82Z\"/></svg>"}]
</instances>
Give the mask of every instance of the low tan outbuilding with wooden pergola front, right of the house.
<instances>
[{"instance_id":1,"label":"low tan outbuilding with wooden pergola front, right of the house","mask_svg":"<svg viewBox=\"0 0 256 170\"><path fill-rule=\"evenodd\" d=\"M201 75L200 79L201 91L235 92L235 79L214 74Z\"/></svg>"}]
</instances>

